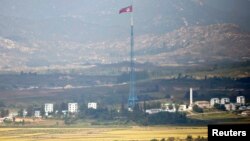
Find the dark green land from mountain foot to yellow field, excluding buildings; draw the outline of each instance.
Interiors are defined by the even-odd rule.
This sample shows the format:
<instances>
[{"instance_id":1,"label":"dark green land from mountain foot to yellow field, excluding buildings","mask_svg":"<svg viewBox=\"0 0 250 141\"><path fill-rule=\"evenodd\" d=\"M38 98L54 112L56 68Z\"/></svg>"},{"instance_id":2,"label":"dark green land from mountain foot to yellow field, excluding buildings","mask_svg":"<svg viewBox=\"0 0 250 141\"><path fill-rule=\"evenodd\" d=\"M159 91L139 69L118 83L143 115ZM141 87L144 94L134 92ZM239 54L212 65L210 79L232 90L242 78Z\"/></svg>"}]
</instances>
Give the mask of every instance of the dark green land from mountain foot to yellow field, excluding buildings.
<instances>
[{"instance_id":1,"label":"dark green land from mountain foot to yellow field, excluding buildings","mask_svg":"<svg viewBox=\"0 0 250 141\"><path fill-rule=\"evenodd\" d=\"M139 76L140 72L137 73ZM63 119L67 125L77 125L79 120L89 119L93 120L91 121L93 125L126 125L128 123L136 123L137 125L200 124L204 119L205 121L206 119L209 120L210 117L209 114L205 114L207 111L203 111L198 107L194 107L194 111L196 113L204 112L204 115L191 116L191 120L181 113L164 112L148 115L144 111L150 108L160 108L161 103L166 101L176 103L177 105L188 103L189 87L197 88L193 92L195 101L209 100L212 97L229 97L234 102L237 95L243 95L246 99L250 99L250 95L248 95L250 92L250 78L204 77L204 79L198 80L192 78L192 76L179 73L178 77L174 78L151 79L160 75L158 73L155 74L154 71L141 72L141 80L138 80L136 83L136 92L140 105L136 107L134 112L126 110L129 86L123 75L0 75L0 80L7 80L5 83L0 83L0 89L3 88L0 93L0 104L2 103L0 108L1 110L6 110L9 107L18 108L19 110L26 109L28 117L31 117L36 109L41 110L42 114L44 113L44 107L42 106L44 103L53 103L54 111L58 110L59 112L53 113L51 116L55 119ZM119 81L121 83L117 83L118 78L120 78ZM50 82L49 84L47 83L48 81ZM30 88L31 85L34 87ZM65 88L65 85L86 86ZM78 114L68 116L61 113L62 110L67 109L67 103L69 102L77 102L79 104L80 111ZM87 109L86 103L88 102L97 102L98 109ZM215 108L221 111L225 107L218 105ZM6 112L2 111L1 114L6 115ZM22 116L21 111L19 111L19 116ZM230 115L228 116L230 117ZM216 117L215 115L211 119L216 119ZM238 120L238 118L232 119Z\"/></svg>"}]
</instances>

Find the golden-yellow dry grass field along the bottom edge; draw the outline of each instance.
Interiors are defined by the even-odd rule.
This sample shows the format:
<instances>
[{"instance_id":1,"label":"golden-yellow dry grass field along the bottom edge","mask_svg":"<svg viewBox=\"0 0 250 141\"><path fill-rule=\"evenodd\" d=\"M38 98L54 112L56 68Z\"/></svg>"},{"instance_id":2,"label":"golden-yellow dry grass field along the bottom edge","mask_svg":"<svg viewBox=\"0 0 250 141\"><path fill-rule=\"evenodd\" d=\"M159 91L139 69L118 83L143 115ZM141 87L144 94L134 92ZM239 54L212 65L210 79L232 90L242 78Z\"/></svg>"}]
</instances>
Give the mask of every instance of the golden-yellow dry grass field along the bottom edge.
<instances>
[{"instance_id":1,"label":"golden-yellow dry grass field along the bottom edge","mask_svg":"<svg viewBox=\"0 0 250 141\"><path fill-rule=\"evenodd\" d=\"M0 141L149 141L207 137L206 127L0 128Z\"/></svg>"}]
</instances>

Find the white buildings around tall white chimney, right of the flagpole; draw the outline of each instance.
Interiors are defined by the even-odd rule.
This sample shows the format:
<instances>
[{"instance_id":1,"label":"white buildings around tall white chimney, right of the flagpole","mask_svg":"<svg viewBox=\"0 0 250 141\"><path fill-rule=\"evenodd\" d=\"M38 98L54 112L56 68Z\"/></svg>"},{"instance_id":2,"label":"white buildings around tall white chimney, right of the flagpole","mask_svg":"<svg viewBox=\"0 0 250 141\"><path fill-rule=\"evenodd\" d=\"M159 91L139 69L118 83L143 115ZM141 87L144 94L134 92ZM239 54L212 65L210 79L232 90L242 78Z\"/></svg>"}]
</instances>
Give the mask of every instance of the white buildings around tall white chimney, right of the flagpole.
<instances>
[{"instance_id":1,"label":"white buildings around tall white chimney, right of the flagpole","mask_svg":"<svg viewBox=\"0 0 250 141\"><path fill-rule=\"evenodd\" d=\"M181 104L177 106L177 104L174 104L174 103L165 103L165 104L162 104L161 108L146 109L145 112L148 114L155 114L159 112L186 112L186 111L193 111L194 105L197 105L201 109L210 109L210 108L214 108L216 104L224 105L225 110L227 111L250 110L250 106L246 106L246 99L244 96L237 96L236 103L230 102L230 99L227 97L223 97L221 99L211 98L210 101L193 102L193 89L190 88L189 105Z\"/></svg>"}]
</instances>

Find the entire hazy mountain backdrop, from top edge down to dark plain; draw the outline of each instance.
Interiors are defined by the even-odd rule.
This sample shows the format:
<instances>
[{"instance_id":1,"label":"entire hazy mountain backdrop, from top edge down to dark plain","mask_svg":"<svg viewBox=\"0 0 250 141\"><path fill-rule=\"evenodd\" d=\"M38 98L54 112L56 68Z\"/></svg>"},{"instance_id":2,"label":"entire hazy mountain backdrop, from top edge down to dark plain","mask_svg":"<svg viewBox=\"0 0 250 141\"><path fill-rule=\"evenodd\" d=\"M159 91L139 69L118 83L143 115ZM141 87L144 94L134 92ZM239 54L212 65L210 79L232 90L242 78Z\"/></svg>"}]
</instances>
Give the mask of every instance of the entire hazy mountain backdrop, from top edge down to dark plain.
<instances>
[{"instance_id":1,"label":"entire hazy mountain backdrop, from top edge down to dark plain","mask_svg":"<svg viewBox=\"0 0 250 141\"><path fill-rule=\"evenodd\" d=\"M129 60L130 1L3 0L0 69ZM136 61L155 65L244 62L249 0L134 1Z\"/></svg>"}]
</instances>

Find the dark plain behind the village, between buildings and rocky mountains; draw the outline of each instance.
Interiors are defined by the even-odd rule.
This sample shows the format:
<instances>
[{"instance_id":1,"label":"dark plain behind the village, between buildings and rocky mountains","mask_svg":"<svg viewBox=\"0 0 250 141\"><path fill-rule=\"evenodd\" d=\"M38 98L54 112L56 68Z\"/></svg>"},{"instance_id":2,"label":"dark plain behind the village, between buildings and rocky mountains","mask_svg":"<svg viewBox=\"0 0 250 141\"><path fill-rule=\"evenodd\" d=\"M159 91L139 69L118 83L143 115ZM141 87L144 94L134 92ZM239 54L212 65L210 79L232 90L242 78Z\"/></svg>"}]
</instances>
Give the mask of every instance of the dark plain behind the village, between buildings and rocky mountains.
<instances>
[{"instance_id":1,"label":"dark plain behind the village, between buildings and rocky mountains","mask_svg":"<svg viewBox=\"0 0 250 141\"><path fill-rule=\"evenodd\" d=\"M137 75L140 76L140 72ZM192 78L191 75L181 73L179 76L169 79L152 79L160 75L154 71L141 72L141 76L144 78L141 77L141 80L136 82L137 95L140 101L167 98L176 102L185 102L188 101L189 87L199 88L199 90L194 91L194 100L209 100L212 97L235 99L237 95L243 95L246 99L250 99L248 95L250 92L248 89L250 86L249 78L210 78L209 76L197 80ZM4 100L4 104L7 103L5 106L12 104L22 108L47 102L87 103L89 101L117 107L128 97L127 80L122 80L120 77L123 77L123 75L0 75L0 101ZM121 83L118 83L118 81ZM67 85L73 88L65 88ZM241 89L244 89L244 91L238 91Z\"/></svg>"}]
</instances>

